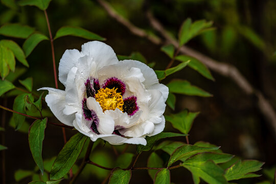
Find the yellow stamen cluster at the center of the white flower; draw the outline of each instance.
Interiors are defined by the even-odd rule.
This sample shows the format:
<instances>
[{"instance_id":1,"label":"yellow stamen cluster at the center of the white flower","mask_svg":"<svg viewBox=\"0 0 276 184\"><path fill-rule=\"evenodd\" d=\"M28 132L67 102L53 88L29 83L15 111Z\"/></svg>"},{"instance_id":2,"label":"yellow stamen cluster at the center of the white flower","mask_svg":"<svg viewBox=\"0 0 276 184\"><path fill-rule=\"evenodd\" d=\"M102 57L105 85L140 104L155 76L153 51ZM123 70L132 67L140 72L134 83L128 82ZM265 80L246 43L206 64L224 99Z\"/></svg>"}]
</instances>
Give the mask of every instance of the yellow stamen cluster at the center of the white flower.
<instances>
[{"instance_id":1,"label":"yellow stamen cluster at the center of the white flower","mask_svg":"<svg viewBox=\"0 0 276 184\"><path fill-rule=\"evenodd\" d=\"M118 88L109 89L108 87L101 88L98 90L98 93L95 95L95 99L101 105L103 111L106 110L115 110L119 108L123 111L124 100L121 93L117 93Z\"/></svg>"}]
</instances>

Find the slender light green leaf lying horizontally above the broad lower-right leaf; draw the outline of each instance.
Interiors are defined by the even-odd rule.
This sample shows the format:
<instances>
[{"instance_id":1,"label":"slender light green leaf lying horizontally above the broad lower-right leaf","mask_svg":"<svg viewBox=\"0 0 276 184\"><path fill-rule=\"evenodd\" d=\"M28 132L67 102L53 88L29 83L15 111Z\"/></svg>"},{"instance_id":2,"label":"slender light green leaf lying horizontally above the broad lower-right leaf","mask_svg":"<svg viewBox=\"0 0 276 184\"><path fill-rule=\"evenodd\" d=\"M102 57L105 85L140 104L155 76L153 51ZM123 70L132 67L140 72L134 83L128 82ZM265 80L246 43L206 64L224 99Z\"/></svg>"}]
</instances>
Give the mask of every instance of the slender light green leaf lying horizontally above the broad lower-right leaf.
<instances>
[{"instance_id":1,"label":"slender light green leaf lying horizontally above the broad lower-right leaf","mask_svg":"<svg viewBox=\"0 0 276 184\"><path fill-rule=\"evenodd\" d=\"M198 153L194 156L191 156L185 162L183 162L184 165L186 164L202 164L204 162L207 162L208 160L213 160L215 164L225 163L231 160L234 157L234 155L226 154L226 153L212 153L212 152L204 152L204 153Z\"/></svg>"}]
</instances>

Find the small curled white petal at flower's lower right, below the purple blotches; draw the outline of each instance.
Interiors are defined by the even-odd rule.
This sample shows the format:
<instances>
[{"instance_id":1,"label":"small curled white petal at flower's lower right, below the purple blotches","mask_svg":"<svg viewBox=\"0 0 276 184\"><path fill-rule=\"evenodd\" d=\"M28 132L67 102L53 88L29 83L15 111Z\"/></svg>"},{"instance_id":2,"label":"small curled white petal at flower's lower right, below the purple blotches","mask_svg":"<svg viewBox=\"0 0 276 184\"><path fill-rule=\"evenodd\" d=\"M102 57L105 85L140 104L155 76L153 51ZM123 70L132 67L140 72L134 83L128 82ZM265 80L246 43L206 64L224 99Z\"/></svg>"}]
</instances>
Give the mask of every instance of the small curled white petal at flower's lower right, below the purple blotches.
<instances>
[{"instance_id":1,"label":"small curled white petal at flower's lower right, below the purple blotches","mask_svg":"<svg viewBox=\"0 0 276 184\"><path fill-rule=\"evenodd\" d=\"M141 137L145 134L150 134L154 130L154 124L149 121L141 122L130 128L120 129L119 132L122 135L130 137Z\"/></svg>"}]
</instances>

